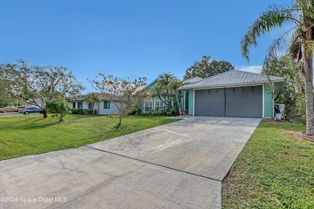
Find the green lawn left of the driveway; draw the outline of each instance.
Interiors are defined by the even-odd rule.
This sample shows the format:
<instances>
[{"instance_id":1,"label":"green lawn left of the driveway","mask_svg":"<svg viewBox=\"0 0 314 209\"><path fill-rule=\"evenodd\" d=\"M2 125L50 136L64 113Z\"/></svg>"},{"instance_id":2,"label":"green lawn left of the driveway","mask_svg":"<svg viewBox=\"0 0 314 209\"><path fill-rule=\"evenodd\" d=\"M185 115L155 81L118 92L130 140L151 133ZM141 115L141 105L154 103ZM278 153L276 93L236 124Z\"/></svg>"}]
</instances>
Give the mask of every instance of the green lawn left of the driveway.
<instances>
[{"instance_id":1,"label":"green lawn left of the driveway","mask_svg":"<svg viewBox=\"0 0 314 209\"><path fill-rule=\"evenodd\" d=\"M0 117L0 160L77 148L177 121L156 116L118 118L67 115L58 122L41 114Z\"/></svg>"}]
</instances>

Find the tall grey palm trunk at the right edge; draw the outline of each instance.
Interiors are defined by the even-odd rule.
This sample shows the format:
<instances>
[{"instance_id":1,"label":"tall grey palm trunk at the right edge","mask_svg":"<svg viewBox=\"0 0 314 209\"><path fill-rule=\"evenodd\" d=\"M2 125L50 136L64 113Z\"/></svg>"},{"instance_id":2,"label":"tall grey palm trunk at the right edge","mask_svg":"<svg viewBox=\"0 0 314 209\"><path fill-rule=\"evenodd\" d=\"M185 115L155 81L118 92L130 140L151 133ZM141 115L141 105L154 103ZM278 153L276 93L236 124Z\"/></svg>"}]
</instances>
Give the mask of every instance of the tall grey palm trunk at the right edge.
<instances>
[{"instance_id":1,"label":"tall grey palm trunk at the right edge","mask_svg":"<svg viewBox=\"0 0 314 209\"><path fill-rule=\"evenodd\" d=\"M304 84L305 84L305 100L306 100L306 132L314 134L313 120L313 58L309 59L304 55Z\"/></svg>"}]
</instances>

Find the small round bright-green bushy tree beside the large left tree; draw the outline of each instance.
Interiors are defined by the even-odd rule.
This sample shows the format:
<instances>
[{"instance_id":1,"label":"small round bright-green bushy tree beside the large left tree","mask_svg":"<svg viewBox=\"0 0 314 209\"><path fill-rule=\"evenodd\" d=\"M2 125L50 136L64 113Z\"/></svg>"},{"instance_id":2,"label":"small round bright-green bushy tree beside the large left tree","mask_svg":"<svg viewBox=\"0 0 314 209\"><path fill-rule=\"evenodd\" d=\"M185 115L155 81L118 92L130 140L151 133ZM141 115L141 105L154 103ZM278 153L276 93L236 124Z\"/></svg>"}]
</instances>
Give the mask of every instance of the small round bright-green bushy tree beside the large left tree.
<instances>
[{"instance_id":1,"label":"small round bright-green bushy tree beside the large left tree","mask_svg":"<svg viewBox=\"0 0 314 209\"><path fill-rule=\"evenodd\" d=\"M64 98L58 97L52 100L46 100L46 111L53 113L52 117L56 116L59 121L63 121L63 117L67 113L71 113L71 105Z\"/></svg>"}]
</instances>

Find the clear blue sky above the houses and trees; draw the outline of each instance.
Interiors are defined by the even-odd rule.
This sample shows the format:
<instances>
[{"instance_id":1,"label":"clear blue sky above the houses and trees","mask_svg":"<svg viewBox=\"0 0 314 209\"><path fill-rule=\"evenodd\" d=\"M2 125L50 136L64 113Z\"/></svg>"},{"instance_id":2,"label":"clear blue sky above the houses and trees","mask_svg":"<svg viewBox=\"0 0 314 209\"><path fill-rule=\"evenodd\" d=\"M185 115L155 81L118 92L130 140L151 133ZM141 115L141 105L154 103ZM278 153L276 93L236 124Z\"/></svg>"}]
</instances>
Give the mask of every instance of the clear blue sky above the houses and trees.
<instances>
[{"instance_id":1,"label":"clear blue sky above the houses and trees","mask_svg":"<svg viewBox=\"0 0 314 209\"><path fill-rule=\"evenodd\" d=\"M6 0L0 2L0 63L18 59L72 70L87 92L97 72L179 79L202 56L257 72L281 32L258 40L250 64L241 57L247 27L269 5L287 0Z\"/></svg>"}]
</instances>

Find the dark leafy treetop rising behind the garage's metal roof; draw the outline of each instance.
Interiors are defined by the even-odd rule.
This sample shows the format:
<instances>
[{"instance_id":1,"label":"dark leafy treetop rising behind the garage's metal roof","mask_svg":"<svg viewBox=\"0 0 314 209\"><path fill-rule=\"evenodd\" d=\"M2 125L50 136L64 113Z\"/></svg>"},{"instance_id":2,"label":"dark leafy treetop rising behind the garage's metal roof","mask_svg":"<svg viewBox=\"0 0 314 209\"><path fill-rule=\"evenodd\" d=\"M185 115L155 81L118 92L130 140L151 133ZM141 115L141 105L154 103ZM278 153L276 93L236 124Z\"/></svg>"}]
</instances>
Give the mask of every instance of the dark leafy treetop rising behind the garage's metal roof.
<instances>
[{"instance_id":1,"label":"dark leafy treetop rising behind the garage's metal roof","mask_svg":"<svg viewBox=\"0 0 314 209\"><path fill-rule=\"evenodd\" d=\"M194 65L186 69L183 79L189 79L193 77L208 78L210 76L233 70L235 67L224 60L209 62L210 56L203 56L201 61L195 61Z\"/></svg>"}]
</instances>

